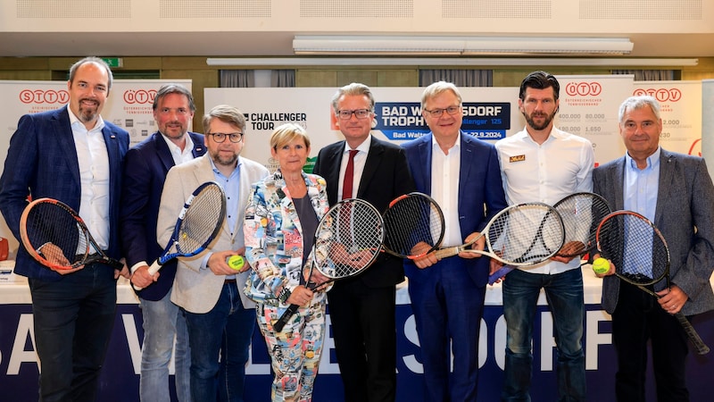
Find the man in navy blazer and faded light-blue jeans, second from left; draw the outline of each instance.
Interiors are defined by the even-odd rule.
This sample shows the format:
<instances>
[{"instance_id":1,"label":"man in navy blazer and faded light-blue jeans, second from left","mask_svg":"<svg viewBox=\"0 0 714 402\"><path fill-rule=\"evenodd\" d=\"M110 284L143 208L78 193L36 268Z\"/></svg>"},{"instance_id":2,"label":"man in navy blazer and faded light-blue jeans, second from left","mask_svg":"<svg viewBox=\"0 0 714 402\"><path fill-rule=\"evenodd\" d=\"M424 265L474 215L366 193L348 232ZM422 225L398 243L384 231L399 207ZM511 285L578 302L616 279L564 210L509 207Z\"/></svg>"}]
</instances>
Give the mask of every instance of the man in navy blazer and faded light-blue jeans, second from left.
<instances>
[{"instance_id":1,"label":"man in navy blazer and faded light-blue jeans, second from left","mask_svg":"<svg viewBox=\"0 0 714 402\"><path fill-rule=\"evenodd\" d=\"M143 401L169 401L169 362L176 337L176 395L190 401L188 331L186 317L171 303L176 260L149 275L149 264L166 245L156 241L156 221L166 173L176 164L205 154L203 135L188 132L194 118L194 96L178 84L167 84L154 97L158 131L127 152L121 191L123 254L138 288L144 319L139 397Z\"/></svg>"}]
</instances>

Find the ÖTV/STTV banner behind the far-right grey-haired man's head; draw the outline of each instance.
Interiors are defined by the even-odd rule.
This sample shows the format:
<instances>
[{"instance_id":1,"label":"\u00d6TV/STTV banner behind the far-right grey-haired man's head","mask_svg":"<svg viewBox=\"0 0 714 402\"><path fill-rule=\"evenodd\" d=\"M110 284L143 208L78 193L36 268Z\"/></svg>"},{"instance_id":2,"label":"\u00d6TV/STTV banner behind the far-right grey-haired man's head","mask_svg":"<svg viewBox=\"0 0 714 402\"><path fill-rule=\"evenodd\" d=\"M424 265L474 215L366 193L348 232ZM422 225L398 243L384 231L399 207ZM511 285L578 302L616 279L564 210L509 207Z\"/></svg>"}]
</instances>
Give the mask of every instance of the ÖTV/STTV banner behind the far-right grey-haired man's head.
<instances>
[{"instance_id":1,"label":"\u00d6TV/STTV banner behind the far-right grey-haired man's head","mask_svg":"<svg viewBox=\"0 0 714 402\"><path fill-rule=\"evenodd\" d=\"M702 156L702 81L636 81L633 95L660 103L661 147Z\"/></svg>"}]
</instances>

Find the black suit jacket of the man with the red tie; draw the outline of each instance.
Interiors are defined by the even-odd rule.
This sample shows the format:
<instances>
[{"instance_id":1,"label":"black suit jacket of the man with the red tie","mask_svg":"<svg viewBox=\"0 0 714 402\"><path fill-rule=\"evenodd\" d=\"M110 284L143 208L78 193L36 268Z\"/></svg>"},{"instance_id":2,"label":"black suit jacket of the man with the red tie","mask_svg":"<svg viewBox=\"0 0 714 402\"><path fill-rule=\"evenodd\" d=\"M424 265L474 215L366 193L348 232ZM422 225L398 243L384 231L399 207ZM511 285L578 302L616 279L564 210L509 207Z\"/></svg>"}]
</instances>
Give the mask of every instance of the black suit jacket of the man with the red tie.
<instances>
[{"instance_id":1,"label":"black suit jacket of the man with the red tie","mask_svg":"<svg viewBox=\"0 0 714 402\"><path fill-rule=\"evenodd\" d=\"M328 183L329 205L337 203L340 163L344 150L345 141L320 149L312 170ZM357 197L384 212L390 201L411 191L414 191L414 184L402 148L372 137ZM373 288L394 286L403 280L402 260L386 253L379 255L374 266L354 278L354 281L363 281Z\"/></svg>"}]
</instances>

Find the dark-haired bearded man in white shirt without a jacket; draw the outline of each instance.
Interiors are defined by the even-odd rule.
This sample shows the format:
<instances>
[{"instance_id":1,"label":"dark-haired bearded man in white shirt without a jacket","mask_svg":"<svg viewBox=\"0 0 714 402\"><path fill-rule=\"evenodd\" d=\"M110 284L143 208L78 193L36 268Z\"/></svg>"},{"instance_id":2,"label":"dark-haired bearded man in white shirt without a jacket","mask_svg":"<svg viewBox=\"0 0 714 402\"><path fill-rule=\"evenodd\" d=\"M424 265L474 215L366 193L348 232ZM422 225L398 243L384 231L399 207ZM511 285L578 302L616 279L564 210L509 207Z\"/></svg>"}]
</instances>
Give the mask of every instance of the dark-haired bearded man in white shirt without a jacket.
<instances>
[{"instance_id":1,"label":"dark-haired bearded man in white shirt without a jacket","mask_svg":"<svg viewBox=\"0 0 714 402\"><path fill-rule=\"evenodd\" d=\"M519 110L526 128L496 143L509 205L543 202L593 190L594 152L585 138L553 127L560 84L551 74L534 71L520 84ZM500 267L492 262L491 272ZM585 400L583 352L583 274L579 258L553 257L520 267L503 280L506 353L501 399L530 400L533 319L540 290L551 307L558 350L558 400Z\"/></svg>"}]
</instances>

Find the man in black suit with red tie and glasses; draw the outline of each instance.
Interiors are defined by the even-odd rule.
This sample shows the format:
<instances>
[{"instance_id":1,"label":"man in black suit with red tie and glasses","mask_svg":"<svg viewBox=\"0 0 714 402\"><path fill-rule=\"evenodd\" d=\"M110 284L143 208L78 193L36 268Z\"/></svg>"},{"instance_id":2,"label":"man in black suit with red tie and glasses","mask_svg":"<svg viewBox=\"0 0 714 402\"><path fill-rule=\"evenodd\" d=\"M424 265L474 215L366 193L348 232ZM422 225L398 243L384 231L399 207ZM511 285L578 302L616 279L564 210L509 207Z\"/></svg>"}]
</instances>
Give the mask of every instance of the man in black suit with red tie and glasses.
<instances>
[{"instance_id":1,"label":"man in black suit with red tie and glasses","mask_svg":"<svg viewBox=\"0 0 714 402\"><path fill-rule=\"evenodd\" d=\"M374 102L369 87L358 83L332 98L345 140L322 148L312 171L327 181L330 205L356 197L384 211L392 199L414 190L403 150L369 134ZM347 174L352 189L345 188L345 172L353 172ZM396 284L403 280L402 260L380 255L366 272L336 281L328 292L345 401L396 398Z\"/></svg>"}]
</instances>

